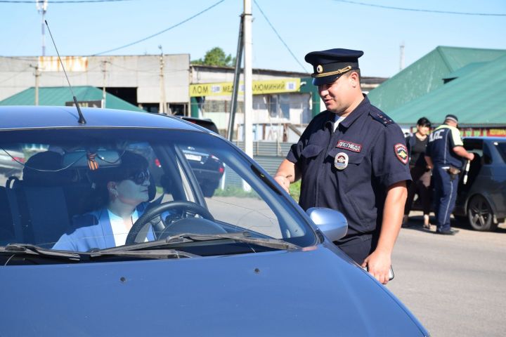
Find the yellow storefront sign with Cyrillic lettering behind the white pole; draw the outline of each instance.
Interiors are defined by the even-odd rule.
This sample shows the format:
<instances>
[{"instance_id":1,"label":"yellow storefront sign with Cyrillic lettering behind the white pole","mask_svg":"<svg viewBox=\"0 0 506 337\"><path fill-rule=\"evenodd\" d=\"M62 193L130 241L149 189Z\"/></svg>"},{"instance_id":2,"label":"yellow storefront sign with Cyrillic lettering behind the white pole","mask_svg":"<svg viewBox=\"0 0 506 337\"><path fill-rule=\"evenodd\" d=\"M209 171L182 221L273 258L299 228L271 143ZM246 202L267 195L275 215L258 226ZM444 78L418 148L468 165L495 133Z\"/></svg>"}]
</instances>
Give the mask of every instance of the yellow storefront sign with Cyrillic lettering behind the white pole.
<instances>
[{"instance_id":1,"label":"yellow storefront sign with Cyrillic lettering behind the white pole","mask_svg":"<svg viewBox=\"0 0 506 337\"><path fill-rule=\"evenodd\" d=\"M253 95L266 93L294 93L300 89L300 79L274 79L253 81ZM232 82L190 84L190 97L232 95ZM239 85L239 94L244 94L244 84Z\"/></svg>"}]
</instances>

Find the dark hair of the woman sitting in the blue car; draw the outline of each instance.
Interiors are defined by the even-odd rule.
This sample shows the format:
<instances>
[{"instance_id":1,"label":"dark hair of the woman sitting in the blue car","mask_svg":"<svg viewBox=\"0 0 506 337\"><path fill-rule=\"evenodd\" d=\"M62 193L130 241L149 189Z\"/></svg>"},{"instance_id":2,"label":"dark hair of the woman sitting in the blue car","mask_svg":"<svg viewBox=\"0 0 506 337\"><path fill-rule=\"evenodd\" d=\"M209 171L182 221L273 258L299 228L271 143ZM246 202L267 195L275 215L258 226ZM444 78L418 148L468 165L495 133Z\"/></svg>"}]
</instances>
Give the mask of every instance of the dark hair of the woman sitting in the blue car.
<instances>
[{"instance_id":1,"label":"dark hair of the woman sitting in the blue car","mask_svg":"<svg viewBox=\"0 0 506 337\"><path fill-rule=\"evenodd\" d=\"M148 169L148 161L140 154L125 151L121 154L120 159L118 166L98 167L98 170L90 172L89 177L93 183L93 192L91 192L89 198L86 198L90 203L86 207L86 211L101 209L108 204L109 191L107 184L110 181L126 180L135 173Z\"/></svg>"}]
</instances>

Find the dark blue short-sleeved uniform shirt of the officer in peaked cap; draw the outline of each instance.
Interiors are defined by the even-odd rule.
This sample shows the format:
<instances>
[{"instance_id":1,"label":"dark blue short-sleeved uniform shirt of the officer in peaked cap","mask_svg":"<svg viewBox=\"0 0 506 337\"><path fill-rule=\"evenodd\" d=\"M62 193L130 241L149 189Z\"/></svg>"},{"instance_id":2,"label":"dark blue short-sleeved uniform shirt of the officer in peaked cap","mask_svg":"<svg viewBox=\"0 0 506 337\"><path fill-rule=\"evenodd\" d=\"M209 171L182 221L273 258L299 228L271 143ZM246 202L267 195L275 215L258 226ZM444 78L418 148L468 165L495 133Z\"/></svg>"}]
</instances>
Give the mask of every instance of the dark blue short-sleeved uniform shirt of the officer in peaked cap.
<instances>
[{"instance_id":1,"label":"dark blue short-sleeved uniform shirt of the officer in peaked cap","mask_svg":"<svg viewBox=\"0 0 506 337\"><path fill-rule=\"evenodd\" d=\"M314 117L287 154L301 172L299 204L341 211L346 237L372 233L381 225L387 187L411 180L404 135L367 97L334 131L335 116Z\"/></svg>"}]
</instances>

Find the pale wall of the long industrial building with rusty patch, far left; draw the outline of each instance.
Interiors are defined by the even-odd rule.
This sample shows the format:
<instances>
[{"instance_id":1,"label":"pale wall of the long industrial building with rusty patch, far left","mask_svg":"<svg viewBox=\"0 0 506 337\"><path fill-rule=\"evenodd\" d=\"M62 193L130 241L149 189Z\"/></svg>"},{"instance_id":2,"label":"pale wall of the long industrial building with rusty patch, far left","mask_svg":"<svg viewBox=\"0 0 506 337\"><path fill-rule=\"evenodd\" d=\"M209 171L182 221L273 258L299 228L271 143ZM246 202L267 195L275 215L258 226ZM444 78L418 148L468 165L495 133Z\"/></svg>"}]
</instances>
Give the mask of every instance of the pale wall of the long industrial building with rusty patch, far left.
<instances>
[{"instance_id":1,"label":"pale wall of the long industrial building with rusty patch, far left","mask_svg":"<svg viewBox=\"0 0 506 337\"><path fill-rule=\"evenodd\" d=\"M137 102L160 102L160 55L67 56L65 71L72 86L136 88ZM67 86L56 56L1 57L0 100L35 86ZM164 55L164 83L167 103L188 103L190 55Z\"/></svg>"}]
</instances>

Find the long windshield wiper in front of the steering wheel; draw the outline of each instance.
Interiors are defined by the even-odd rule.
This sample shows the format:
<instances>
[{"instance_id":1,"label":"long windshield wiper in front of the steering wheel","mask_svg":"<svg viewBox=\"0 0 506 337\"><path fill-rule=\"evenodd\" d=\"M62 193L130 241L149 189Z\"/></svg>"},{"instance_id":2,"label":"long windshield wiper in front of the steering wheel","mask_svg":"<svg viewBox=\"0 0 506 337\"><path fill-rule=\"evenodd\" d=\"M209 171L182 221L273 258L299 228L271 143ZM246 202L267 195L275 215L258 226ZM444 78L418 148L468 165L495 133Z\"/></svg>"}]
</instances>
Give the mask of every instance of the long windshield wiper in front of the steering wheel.
<instances>
[{"instance_id":1,"label":"long windshield wiper in front of the steering wheel","mask_svg":"<svg viewBox=\"0 0 506 337\"><path fill-rule=\"evenodd\" d=\"M100 253L110 253L117 251L139 251L148 248L157 248L164 246L172 246L174 244L181 244L184 242L200 242L200 241L211 241L220 239L231 239L236 242L244 242L247 244L256 244L258 246L264 246L273 249L299 249L300 247L296 244L283 241L281 239L264 239L259 237L250 237L249 232L238 232L238 233L223 233L223 234L196 234L196 233L181 233L171 235L166 239L141 242L133 244L131 246L119 246L108 249L100 249Z\"/></svg>"}]
</instances>

